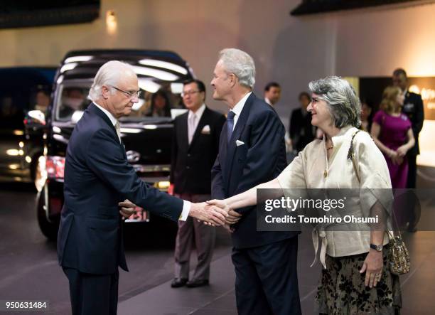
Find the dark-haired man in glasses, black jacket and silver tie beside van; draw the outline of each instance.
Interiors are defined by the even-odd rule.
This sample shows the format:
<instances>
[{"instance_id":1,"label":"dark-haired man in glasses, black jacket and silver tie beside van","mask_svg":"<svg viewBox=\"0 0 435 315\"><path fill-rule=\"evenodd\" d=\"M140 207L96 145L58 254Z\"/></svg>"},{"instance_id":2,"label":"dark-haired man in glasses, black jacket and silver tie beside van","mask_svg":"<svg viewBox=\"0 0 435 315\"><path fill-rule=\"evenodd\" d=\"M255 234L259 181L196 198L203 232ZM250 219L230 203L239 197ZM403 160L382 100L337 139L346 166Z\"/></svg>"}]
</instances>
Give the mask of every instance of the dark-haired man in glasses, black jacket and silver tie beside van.
<instances>
[{"instance_id":1,"label":"dark-haired man in glasses, black jacket and silver tie beside van","mask_svg":"<svg viewBox=\"0 0 435 315\"><path fill-rule=\"evenodd\" d=\"M173 128L171 186L174 196L194 203L210 200L211 168L218 155L219 136L225 116L205 106L205 85L189 80L183 85L188 112L176 117ZM215 227L188 218L178 221L175 249L175 278L171 287L201 287L208 284L215 246ZM198 265L189 278L193 245Z\"/></svg>"}]
</instances>

